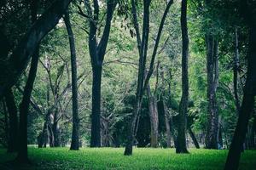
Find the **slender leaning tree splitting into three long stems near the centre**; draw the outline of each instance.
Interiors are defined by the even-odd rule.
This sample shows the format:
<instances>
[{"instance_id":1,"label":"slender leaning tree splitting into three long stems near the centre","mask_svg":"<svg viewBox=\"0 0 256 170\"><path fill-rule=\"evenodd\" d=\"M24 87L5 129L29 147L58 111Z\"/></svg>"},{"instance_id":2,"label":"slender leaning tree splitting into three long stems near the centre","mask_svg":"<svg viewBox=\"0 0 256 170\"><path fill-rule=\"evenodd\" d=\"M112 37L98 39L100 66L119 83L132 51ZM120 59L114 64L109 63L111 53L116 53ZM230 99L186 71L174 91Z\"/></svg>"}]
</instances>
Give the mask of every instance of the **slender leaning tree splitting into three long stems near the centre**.
<instances>
[{"instance_id":1,"label":"slender leaning tree splitting into three long stems near the centre","mask_svg":"<svg viewBox=\"0 0 256 170\"><path fill-rule=\"evenodd\" d=\"M134 136L136 133L136 122L139 115L139 112L142 107L143 91L148 87L149 79L154 71L154 59L157 54L157 49L160 42L160 36L165 24L166 16L173 1L169 1L166 5L166 9L160 21L160 27L157 33L157 37L154 43L153 54L151 56L151 61L148 69L148 74L145 77L146 71L146 60L148 54L148 33L149 33L149 7L151 0L143 0L143 36L141 37L139 31L139 24L137 19L137 7L134 0L131 0L131 13L132 13L132 23L136 31L137 37L137 48L139 52L139 67L137 75L137 91L136 91L136 101L133 106L133 111L131 115L131 123L128 130L127 141L125 144L125 156L131 156L132 154L132 145L134 142ZM145 78L144 78L145 77Z\"/></svg>"}]
</instances>

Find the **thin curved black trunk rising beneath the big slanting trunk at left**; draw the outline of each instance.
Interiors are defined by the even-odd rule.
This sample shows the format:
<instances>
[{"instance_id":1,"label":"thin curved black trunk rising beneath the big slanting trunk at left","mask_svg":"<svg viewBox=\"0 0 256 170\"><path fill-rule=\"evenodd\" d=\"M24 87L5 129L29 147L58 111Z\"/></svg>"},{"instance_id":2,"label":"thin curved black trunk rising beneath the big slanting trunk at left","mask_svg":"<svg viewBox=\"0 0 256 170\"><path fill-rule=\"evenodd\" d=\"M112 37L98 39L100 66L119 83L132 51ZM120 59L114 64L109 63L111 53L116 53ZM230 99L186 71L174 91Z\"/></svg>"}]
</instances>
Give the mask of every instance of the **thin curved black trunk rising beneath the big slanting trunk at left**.
<instances>
[{"instance_id":1,"label":"thin curved black trunk rising beneath the big slanting trunk at left","mask_svg":"<svg viewBox=\"0 0 256 170\"><path fill-rule=\"evenodd\" d=\"M32 56L31 68L28 74L26 81L26 86L24 88L24 94L22 101L20 103L20 128L19 128L19 151L16 161L19 163L28 163L27 156L27 114L29 111L30 97L32 94L32 88L35 81L35 77L38 71L38 59L39 59L39 50L36 49L36 52Z\"/></svg>"}]
</instances>

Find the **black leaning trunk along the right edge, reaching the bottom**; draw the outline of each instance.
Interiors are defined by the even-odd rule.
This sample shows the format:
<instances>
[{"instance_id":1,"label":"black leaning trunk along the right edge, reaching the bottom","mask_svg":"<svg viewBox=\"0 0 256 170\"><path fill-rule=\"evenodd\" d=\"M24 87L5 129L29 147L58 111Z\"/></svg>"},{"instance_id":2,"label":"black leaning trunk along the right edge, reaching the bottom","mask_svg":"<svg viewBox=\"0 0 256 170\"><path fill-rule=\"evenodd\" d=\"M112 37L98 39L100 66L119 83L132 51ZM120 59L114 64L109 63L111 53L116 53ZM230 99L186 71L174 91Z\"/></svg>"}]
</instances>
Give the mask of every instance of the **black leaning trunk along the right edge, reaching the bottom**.
<instances>
[{"instance_id":1,"label":"black leaning trunk along the right edge, reaching the bottom","mask_svg":"<svg viewBox=\"0 0 256 170\"><path fill-rule=\"evenodd\" d=\"M246 2L241 3L242 5L247 5ZM232 143L230 145L230 151L224 168L225 170L238 169L241 157L241 148L246 138L248 120L253 111L256 94L256 26L254 22L255 17L253 17L252 14L249 14L249 6L243 8L243 10L243 13L246 13L245 19L248 20L249 26L247 81L244 87L241 109L239 111L239 118L236 124L236 130L232 139Z\"/></svg>"}]
</instances>

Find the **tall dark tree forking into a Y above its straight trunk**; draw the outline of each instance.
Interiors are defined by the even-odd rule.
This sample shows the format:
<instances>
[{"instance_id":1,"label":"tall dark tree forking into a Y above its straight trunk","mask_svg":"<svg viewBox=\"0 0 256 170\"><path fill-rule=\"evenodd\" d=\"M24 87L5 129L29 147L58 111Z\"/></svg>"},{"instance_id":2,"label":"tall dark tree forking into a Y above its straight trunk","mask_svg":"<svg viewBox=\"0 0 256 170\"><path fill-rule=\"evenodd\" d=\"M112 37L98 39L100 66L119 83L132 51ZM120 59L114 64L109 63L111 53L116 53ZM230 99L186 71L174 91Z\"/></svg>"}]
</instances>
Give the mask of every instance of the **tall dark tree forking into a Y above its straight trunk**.
<instances>
[{"instance_id":1,"label":"tall dark tree forking into a Y above its straight trunk","mask_svg":"<svg viewBox=\"0 0 256 170\"><path fill-rule=\"evenodd\" d=\"M90 62L92 67L92 99L91 99L91 130L90 130L90 147L101 146L101 86L102 86L102 64L108 45L108 37L113 18L113 11L116 1L107 1L107 17L100 42L97 42L97 31L100 13L100 6L97 0L93 1L94 10L90 6L90 1L85 0L85 7L89 15L89 51Z\"/></svg>"}]
</instances>

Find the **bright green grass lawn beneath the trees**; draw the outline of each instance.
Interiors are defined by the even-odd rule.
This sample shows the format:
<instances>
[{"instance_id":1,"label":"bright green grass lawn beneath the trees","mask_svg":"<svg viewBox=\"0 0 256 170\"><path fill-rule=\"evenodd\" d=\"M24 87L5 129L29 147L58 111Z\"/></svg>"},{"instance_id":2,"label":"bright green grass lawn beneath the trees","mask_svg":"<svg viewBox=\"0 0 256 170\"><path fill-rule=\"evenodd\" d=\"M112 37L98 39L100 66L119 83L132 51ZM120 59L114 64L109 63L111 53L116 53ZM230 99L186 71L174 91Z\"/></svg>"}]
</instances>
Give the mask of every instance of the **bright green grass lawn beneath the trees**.
<instances>
[{"instance_id":1,"label":"bright green grass lawn beneath the trees","mask_svg":"<svg viewBox=\"0 0 256 170\"><path fill-rule=\"evenodd\" d=\"M0 149L0 169L223 169L228 150L196 150L190 154L175 154L174 149L136 148L133 156L123 156L124 148L68 148L38 149L29 147L32 165L14 167L9 161L15 154ZM240 169L256 170L256 150L245 150L241 155Z\"/></svg>"}]
</instances>

